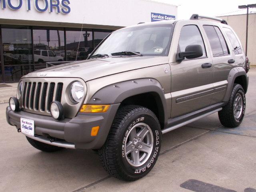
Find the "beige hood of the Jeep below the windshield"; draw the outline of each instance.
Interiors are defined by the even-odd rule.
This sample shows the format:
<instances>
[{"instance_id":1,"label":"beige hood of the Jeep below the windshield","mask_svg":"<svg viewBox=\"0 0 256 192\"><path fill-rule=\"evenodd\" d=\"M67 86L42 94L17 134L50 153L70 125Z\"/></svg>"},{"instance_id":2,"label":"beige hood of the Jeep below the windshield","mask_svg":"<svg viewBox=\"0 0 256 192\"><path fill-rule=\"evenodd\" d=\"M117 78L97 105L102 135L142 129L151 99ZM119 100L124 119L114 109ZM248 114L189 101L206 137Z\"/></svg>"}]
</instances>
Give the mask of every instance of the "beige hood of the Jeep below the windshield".
<instances>
[{"instance_id":1,"label":"beige hood of the Jeep below the windshield","mask_svg":"<svg viewBox=\"0 0 256 192\"><path fill-rule=\"evenodd\" d=\"M116 74L168 63L167 56L142 56L142 57L110 57L100 59L90 59L78 62L71 62L44 68L29 73L22 78L82 78L85 82Z\"/></svg>"}]
</instances>

